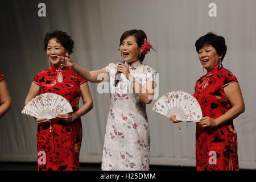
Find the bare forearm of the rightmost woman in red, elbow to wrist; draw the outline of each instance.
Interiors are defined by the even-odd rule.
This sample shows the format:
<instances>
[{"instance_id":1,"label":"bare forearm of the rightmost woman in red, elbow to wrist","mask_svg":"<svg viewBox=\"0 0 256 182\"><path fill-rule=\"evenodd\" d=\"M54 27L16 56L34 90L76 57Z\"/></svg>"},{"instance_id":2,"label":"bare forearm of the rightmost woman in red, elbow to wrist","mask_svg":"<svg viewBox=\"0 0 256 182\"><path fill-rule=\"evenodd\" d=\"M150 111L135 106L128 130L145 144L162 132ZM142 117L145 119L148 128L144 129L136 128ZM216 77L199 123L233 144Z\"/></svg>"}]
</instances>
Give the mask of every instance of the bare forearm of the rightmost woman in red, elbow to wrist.
<instances>
[{"instance_id":1,"label":"bare forearm of the rightmost woman in red, elbow to wrist","mask_svg":"<svg viewBox=\"0 0 256 182\"><path fill-rule=\"evenodd\" d=\"M222 125L228 121L231 121L232 119L238 117L241 113L245 111L244 105L235 105L230 110L228 110L225 114L218 117L216 120L217 125Z\"/></svg>"}]
</instances>

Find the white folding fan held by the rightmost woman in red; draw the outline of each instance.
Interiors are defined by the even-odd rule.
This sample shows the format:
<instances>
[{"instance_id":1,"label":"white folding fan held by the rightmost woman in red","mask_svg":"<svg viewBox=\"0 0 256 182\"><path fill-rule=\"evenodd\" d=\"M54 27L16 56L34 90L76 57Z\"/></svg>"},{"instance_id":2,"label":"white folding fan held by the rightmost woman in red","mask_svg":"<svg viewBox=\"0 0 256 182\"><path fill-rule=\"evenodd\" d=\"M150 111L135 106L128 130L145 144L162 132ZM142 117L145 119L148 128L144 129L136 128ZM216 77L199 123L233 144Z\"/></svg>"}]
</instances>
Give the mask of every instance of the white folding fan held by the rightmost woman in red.
<instances>
[{"instance_id":1,"label":"white folding fan held by the rightmost woman in red","mask_svg":"<svg viewBox=\"0 0 256 182\"><path fill-rule=\"evenodd\" d=\"M176 115L177 121L199 122L203 117L199 102L191 94L174 91L164 94L155 102L153 110L170 118Z\"/></svg>"}]
</instances>

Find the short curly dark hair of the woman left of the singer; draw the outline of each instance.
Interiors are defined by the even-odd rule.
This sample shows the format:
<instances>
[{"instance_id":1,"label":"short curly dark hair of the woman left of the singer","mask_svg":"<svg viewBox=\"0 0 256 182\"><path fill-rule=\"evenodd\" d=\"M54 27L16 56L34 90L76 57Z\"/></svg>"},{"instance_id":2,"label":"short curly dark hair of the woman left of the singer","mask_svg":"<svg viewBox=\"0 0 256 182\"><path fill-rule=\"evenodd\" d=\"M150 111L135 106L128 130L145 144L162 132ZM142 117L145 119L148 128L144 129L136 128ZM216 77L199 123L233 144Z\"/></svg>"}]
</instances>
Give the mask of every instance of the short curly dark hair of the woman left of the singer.
<instances>
[{"instance_id":1,"label":"short curly dark hair of the woman left of the singer","mask_svg":"<svg viewBox=\"0 0 256 182\"><path fill-rule=\"evenodd\" d=\"M67 32L63 32L60 30L46 33L46 36L44 37L44 51L47 50L49 40L53 38L56 38L57 42L59 42L61 46L65 48L65 51L68 51L69 55L73 53L74 41L67 34Z\"/></svg>"}]
</instances>

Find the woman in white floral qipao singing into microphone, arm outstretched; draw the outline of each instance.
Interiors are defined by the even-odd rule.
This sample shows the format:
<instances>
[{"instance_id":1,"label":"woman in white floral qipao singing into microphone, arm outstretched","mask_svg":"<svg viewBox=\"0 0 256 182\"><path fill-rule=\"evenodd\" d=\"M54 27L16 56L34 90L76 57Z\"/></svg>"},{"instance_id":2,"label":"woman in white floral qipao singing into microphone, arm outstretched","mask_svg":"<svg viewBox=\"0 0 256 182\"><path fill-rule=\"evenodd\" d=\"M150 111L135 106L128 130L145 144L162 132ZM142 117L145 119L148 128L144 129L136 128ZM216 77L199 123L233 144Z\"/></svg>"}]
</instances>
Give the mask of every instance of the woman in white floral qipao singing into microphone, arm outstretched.
<instances>
[{"instance_id":1,"label":"woman in white floral qipao singing into microphone, arm outstretched","mask_svg":"<svg viewBox=\"0 0 256 182\"><path fill-rule=\"evenodd\" d=\"M142 64L151 45L142 30L123 33L119 49L123 63L110 63L103 69L87 71L73 63L72 58L61 57L65 67L72 68L90 82L101 82L107 74L111 105L106 126L102 170L149 170L150 132L146 104L154 97L156 71ZM121 72L114 86L116 72Z\"/></svg>"}]
</instances>

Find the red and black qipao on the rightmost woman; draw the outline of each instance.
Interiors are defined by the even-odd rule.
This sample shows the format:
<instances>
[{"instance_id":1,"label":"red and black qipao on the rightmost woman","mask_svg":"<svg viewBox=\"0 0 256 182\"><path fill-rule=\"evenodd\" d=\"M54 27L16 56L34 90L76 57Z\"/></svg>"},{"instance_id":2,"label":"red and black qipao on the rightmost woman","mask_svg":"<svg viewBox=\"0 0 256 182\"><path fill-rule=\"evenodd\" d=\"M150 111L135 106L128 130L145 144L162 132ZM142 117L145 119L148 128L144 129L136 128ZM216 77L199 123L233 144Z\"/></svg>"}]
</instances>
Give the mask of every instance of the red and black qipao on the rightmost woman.
<instances>
[{"instance_id":1,"label":"red and black qipao on the rightmost woman","mask_svg":"<svg viewBox=\"0 0 256 182\"><path fill-rule=\"evenodd\" d=\"M237 82L228 69L217 65L196 81L193 96L199 101L203 117L216 119L232 108L224 87ZM196 169L238 170L237 133L233 121L209 128L196 125Z\"/></svg>"}]
</instances>

